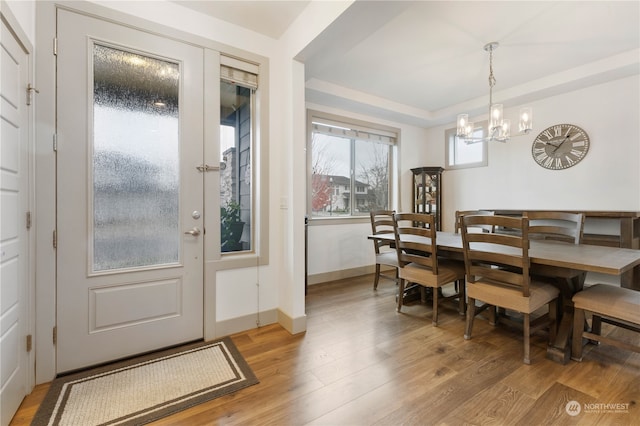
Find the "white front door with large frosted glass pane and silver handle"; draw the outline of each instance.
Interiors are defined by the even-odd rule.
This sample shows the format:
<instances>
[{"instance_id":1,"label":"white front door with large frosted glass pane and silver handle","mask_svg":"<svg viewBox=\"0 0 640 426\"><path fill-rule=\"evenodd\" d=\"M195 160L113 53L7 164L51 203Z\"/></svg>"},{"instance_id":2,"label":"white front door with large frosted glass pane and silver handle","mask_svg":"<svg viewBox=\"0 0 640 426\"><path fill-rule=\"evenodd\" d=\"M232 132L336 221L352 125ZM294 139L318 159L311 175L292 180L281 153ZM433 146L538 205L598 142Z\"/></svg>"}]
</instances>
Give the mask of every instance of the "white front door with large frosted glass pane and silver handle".
<instances>
[{"instance_id":1,"label":"white front door with large frosted glass pane and silver handle","mask_svg":"<svg viewBox=\"0 0 640 426\"><path fill-rule=\"evenodd\" d=\"M203 50L57 20L60 373L203 337Z\"/></svg>"}]
</instances>

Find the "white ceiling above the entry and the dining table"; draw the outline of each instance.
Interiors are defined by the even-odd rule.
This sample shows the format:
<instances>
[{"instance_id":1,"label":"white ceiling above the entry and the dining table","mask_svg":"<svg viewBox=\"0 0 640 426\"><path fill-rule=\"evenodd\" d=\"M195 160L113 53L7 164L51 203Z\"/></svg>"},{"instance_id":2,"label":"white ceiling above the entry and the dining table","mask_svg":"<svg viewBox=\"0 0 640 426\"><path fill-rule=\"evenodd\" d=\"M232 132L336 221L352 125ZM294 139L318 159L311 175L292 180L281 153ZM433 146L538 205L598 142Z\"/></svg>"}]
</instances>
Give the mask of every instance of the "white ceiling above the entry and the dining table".
<instances>
[{"instance_id":1,"label":"white ceiling above the entry and the dining table","mask_svg":"<svg viewBox=\"0 0 640 426\"><path fill-rule=\"evenodd\" d=\"M309 2L180 3L277 38ZM308 102L430 126L486 112L492 41L494 101L532 102L640 73L640 2L356 1L297 59Z\"/></svg>"}]
</instances>

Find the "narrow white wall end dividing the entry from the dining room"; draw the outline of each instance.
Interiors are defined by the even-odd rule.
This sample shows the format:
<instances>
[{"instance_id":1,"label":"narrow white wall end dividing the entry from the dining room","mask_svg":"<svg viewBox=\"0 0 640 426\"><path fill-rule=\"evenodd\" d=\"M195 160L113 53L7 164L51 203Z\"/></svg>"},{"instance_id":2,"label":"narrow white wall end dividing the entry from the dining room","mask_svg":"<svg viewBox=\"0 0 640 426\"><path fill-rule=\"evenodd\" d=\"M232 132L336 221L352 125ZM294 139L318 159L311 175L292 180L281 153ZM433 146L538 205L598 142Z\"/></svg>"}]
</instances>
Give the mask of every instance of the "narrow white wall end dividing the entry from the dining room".
<instances>
[{"instance_id":1,"label":"narrow white wall end dividing the entry from the dining room","mask_svg":"<svg viewBox=\"0 0 640 426\"><path fill-rule=\"evenodd\" d=\"M280 39L279 58L273 74L280 83L274 86L274 114L280 111L280 146L271 146L270 167L279 178L279 191L271 202L280 209L279 233L279 309L293 321L285 325L291 332L306 330L304 291L304 215L306 213L306 112L304 109L304 65L294 58L352 3L352 0L311 2ZM280 90L282 88L282 90ZM273 139L272 139L273 140ZM282 323L282 321L280 321Z\"/></svg>"}]
</instances>

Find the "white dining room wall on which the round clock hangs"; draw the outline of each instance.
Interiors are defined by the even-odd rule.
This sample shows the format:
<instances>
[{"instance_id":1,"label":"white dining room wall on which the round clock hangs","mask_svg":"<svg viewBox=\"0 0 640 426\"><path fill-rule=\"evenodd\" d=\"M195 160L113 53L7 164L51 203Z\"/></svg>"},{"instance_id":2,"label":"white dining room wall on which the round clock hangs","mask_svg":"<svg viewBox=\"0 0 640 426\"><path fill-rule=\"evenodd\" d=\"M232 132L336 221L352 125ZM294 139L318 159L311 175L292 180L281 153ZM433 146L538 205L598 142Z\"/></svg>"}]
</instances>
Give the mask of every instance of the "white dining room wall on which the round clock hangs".
<instances>
[{"instance_id":1,"label":"white dining room wall on which the round clock hangs","mask_svg":"<svg viewBox=\"0 0 640 426\"><path fill-rule=\"evenodd\" d=\"M531 104L534 130L505 144L489 145L489 165L445 171L444 229L456 210L640 210L640 77L632 76ZM517 108L506 115L517 115ZM587 156L565 170L533 161L531 144L545 128L575 124L589 135ZM444 164L444 130L429 129L426 155Z\"/></svg>"}]
</instances>

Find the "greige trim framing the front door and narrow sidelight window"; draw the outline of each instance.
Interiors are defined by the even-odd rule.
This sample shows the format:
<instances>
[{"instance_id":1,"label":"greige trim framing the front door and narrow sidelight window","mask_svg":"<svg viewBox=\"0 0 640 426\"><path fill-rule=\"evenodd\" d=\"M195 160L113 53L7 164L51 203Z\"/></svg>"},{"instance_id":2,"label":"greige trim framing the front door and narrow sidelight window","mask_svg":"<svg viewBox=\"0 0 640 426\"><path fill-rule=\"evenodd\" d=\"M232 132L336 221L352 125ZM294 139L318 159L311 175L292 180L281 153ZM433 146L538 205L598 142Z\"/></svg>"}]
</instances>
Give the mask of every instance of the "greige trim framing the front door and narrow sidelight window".
<instances>
[{"instance_id":1,"label":"greige trim framing the front door and narrow sidelight window","mask_svg":"<svg viewBox=\"0 0 640 426\"><path fill-rule=\"evenodd\" d=\"M38 333L35 335L36 373L35 383L46 383L55 378L56 371L56 252L53 247L53 233L56 228L56 157L54 151L54 133L56 129L56 58L54 56L53 40L56 36L56 12L59 8L71 10L77 13L89 14L102 19L129 25L133 28L147 31L156 35L173 38L178 41L196 44L205 48L205 72L215 73L219 80L219 67L215 65L215 56L224 54L230 57L243 58L256 64L260 70L260 79L269 81L269 59L246 50L230 46L221 42L207 39L195 34L187 33L174 27L152 22L125 12L110 9L94 3L74 2L36 2L36 78L40 89L39 102L36 104L36 141L35 141L35 187L37 188L35 202L38 209L38 226L35 237L35 274L37 277L35 289L35 304L38 307L38 315L35 326ZM205 88L205 99L219 98L219 84L210 84ZM220 327L216 321L216 278L219 271L254 267L269 264L269 84L261 86L260 96L257 102L264 107L260 109L259 117L256 117L260 133L260 149L256 158L256 181L260 182L259 195L256 197L255 225L259 230L256 233L256 250L254 253L242 256L220 256L219 229L209 229L205 239L205 269L204 269L204 335L205 339L219 337L218 333L229 334L229 328ZM218 108L212 102L205 101L205 115L211 120L205 126L205 141L213 147L219 143L219 127L215 120L219 114ZM216 164L217 151L205 148L205 162ZM207 185L215 187L218 178L214 173L205 176L205 192ZM205 199L205 211L210 205ZM219 221L219 211L214 211L212 222ZM211 227L210 227L211 228ZM219 228L219 227L218 227ZM217 247L216 247L217 246ZM34 314L35 315L35 314ZM275 309L261 314L262 324L280 321ZM255 314L252 315L255 318ZM304 319L303 319L304 320ZM300 320L304 322L303 320ZM303 331L305 324L295 322L295 326L287 327ZM281 321L280 321L281 322ZM246 329L246 328L245 328ZM240 331L240 330L238 330Z\"/></svg>"}]
</instances>

